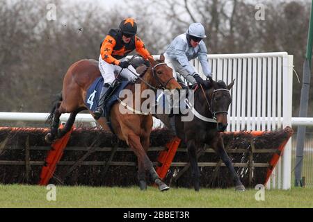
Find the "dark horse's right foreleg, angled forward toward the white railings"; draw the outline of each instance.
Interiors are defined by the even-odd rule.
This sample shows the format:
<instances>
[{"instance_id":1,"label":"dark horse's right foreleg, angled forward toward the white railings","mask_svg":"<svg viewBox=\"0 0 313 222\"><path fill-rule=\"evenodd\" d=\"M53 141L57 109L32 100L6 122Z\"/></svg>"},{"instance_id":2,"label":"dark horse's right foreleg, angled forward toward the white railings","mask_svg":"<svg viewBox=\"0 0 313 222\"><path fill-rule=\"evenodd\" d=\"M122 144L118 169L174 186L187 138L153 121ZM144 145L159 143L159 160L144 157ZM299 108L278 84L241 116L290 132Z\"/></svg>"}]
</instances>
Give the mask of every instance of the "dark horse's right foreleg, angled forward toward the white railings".
<instances>
[{"instance_id":1,"label":"dark horse's right foreleg, angled forward toward the white railings","mask_svg":"<svg viewBox=\"0 0 313 222\"><path fill-rule=\"evenodd\" d=\"M216 144L216 147L214 147L214 150L220 156L220 159L223 160L226 167L228 167L228 169L230 169L230 173L232 173L232 180L234 181L235 189L239 190L239 191L244 191L245 187L241 183L238 174L234 170L234 165L232 164L232 160L230 160L230 157L227 155L227 153L225 151L222 138L218 139L218 142Z\"/></svg>"}]
</instances>

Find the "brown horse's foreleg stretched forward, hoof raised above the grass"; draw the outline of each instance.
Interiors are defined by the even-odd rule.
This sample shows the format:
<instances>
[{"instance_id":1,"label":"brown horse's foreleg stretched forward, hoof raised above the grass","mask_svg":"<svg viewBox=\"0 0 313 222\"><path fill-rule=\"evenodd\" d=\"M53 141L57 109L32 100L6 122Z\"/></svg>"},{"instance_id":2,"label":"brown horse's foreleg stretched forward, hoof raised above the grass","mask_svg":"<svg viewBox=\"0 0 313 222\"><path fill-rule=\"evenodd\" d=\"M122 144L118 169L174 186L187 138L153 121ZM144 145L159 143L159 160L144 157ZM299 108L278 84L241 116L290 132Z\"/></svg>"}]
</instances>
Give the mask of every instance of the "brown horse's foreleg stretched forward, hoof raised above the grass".
<instances>
[{"instance_id":1,"label":"brown horse's foreleg stretched forward, hoof raised above the grass","mask_svg":"<svg viewBox=\"0 0 313 222\"><path fill-rule=\"evenodd\" d=\"M129 135L128 136L128 144L129 147L134 151L134 153L138 157L138 162L143 164L145 171L148 171L152 177L152 180L159 186L160 191L165 191L170 189L158 176L155 171L152 162L149 157L145 153L143 146L141 145L140 137L137 135Z\"/></svg>"}]
</instances>

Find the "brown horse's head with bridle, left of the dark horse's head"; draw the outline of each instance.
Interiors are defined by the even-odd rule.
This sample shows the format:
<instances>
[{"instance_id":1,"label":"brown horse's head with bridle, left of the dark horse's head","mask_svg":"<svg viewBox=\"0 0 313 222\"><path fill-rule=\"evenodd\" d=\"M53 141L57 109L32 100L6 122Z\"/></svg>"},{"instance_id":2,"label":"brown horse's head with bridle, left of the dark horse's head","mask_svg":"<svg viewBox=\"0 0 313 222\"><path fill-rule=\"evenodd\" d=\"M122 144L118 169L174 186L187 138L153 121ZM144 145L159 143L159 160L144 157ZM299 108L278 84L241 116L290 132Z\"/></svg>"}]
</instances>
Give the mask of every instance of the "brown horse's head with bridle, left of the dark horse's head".
<instances>
[{"instance_id":1,"label":"brown horse's head with bridle, left of the dark horse's head","mask_svg":"<svg viewBox=\"0 0 313 222\"><path fill-rule=\"evenodd\" d=\"M164 56L161 54L159 60L148 58L152 67L152 76L156 81L157 88L164 89L182 89L182 86L177 83L175 78L172 76L172 69L164 62Z\"/></svg>"}]
</instances>

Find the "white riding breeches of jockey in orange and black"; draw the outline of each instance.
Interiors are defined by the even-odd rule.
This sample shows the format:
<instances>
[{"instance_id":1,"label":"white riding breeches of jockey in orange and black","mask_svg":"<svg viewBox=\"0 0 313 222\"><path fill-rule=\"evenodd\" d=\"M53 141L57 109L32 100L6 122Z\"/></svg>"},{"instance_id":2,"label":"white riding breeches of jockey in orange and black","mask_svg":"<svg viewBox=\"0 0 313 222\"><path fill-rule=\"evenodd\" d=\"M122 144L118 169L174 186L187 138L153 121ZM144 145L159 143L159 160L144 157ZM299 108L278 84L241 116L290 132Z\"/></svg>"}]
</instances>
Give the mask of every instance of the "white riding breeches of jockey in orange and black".
<instances>
[{"instance_id":1,"label":"white riding breeches of jockey in orange and black","mask_svg":"<svg viewBox=\"0 0 313 222\"><path fill-rule=\"evenodd\" d=\"M125 60L125 59L126 58L122 58L122 60ZM117 73L117 74L120 73L120 70L122 68L119 67L118 65L109 64L108 62L104 61L100 55L99 56L99 69L100 69L101 75L104 79L104 83L111 84L115 80L115 73ZM132 74L130 70L133 71L135 74L137 74L136 69L134 69L134 67L129 65L129 67L127 69L123 69L121 71L120 75L129 81L135 81L137 76ZM138 76L139 76L139 74L138 74Z\"/></svg>"}]
</instances>

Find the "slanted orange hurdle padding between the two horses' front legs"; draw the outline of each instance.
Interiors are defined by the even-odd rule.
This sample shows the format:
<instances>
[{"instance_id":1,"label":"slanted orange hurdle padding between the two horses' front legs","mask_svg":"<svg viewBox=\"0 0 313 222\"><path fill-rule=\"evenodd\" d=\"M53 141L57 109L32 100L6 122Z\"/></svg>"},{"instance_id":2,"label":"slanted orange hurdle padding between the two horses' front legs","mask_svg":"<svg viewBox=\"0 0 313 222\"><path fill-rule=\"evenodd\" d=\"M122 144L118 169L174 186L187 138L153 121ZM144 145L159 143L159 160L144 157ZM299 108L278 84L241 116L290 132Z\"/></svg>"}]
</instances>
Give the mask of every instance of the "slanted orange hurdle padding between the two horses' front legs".
<instances>
[{"instance_id":1,"label":"slanted orange hurdle padding between the two horses' front legs","mask_svg":"<svg viewBox=\"0 0 313 222\"><path fill-rule=\"evenodd\" d=\"M168 173L168 169L170 169L170 164L172 164L172 160L175 157L177 148L181 142L181 139L178 137L174 137L168 144L166 144L166 147L168 148L166 151L161 151L158 157L158 162L161 164L161 166L158 166L156 171L163 180L166 177L166 174Z\"/></svg>"}]
</instances>

